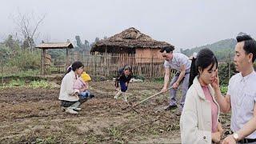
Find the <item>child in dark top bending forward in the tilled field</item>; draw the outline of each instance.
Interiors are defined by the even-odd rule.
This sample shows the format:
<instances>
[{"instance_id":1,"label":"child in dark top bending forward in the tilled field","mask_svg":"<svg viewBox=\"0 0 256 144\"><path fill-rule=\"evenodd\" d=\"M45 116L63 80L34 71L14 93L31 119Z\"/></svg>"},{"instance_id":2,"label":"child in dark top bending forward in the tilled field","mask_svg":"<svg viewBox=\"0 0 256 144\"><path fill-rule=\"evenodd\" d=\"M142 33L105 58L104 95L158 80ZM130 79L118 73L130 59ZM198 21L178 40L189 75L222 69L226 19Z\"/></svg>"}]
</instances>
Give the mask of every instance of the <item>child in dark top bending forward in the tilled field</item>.
<instances>
[{"instance_id":1,"label":"child in dark top bending forward in the tilled field","mask_svg":"<svg viewBox=\"0 0 256 144\"><path fill-rule=\"evenodd\" d=\"M118 96L122 95L124 101L127 102L126 90L128 89L128 85L130 79L132 78L132 71L130 66L124 66L118 70L118 76L115 80L115 87L118 90L118 86L120 84L121 90L118 90L118 94L115 94L114 98L118 98Z\"/></svg>"}]
</instances>

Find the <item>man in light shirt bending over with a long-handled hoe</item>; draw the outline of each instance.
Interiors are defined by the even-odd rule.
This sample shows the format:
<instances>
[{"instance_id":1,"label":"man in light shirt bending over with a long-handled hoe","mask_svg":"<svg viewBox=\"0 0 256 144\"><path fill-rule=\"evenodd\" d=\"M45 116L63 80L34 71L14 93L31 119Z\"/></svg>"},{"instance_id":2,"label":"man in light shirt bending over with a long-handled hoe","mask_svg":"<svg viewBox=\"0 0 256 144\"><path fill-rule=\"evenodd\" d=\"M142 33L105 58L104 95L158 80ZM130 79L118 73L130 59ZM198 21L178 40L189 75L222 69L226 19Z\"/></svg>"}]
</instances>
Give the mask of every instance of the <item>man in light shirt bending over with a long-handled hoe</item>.
<instances>
[{"instance_id":1,"label":"man in light shirt bending over with a long-handled hoe","mask_svg":"<svg viewBox=\"0 0 256 144\"><path fill-rule=\"evenodd\" d=\"M173 53L174 46L163 47L160 52L162 53L162 57L166 58L164 62L165 66L165 78L164 78L164 86L162 88L162 92L166 92L168 83L170 81L170 69L177 70L178 73L175 74L174 78L172 78L170 82L170 105L166 108L166 110L171 110L177 108L176 102L176 92L178 86L182 83L182 100L181 100L181 110L185 103L186 91L189 87L189 79L190 79L190 59L181 53Z\"/></svg>"}]
</instances>

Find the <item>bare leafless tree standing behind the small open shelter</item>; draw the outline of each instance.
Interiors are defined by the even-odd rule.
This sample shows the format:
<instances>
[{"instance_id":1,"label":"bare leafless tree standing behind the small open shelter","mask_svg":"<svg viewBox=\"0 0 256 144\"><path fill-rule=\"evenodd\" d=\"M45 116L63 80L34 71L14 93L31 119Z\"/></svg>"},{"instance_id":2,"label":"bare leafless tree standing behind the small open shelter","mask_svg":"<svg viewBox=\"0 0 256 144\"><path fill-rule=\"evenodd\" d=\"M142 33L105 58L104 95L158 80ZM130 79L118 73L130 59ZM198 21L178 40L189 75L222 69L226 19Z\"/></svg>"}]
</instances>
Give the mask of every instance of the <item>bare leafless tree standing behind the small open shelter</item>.
<instances>
[{"instance_id":1,"label":"bare leafless tree standing behind the small open shelter","mask_svg":"<svg viewBox=\"0 0 256 144\"><path fill-rule=\"evenodd\" d=\"M18 12L14 16L14 22L18 29L18 34L21 35L24 43L28 44L30 51L34 49L34 40L38 37L38 27L42 24L46 14L35 18L34 14L22 14ZM25 42L26 41L26 42Z\"/></svg>"}]
</instances>

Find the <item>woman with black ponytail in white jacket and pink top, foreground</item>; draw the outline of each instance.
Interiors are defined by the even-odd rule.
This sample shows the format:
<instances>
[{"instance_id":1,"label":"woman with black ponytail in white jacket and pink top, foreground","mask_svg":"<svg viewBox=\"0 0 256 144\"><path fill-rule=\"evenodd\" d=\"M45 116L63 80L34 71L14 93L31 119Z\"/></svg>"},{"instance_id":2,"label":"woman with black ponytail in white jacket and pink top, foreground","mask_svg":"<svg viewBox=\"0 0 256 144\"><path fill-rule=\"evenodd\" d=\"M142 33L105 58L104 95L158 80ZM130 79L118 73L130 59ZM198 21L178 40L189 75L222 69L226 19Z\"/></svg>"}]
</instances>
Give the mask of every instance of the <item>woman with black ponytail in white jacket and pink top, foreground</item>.
<instances>
[{"instance_id":1,"label":"woman with black ponytail in white jacket and pink top, foreground","mask_svg":"<svg viewBox=\"0 0 256 144\"><path fill-rule=\"evenodd\" d=\"M180 119L182 143L220 142L219 106L210 85L217 69L217 58L209 49L200 50L197 58L192 60L190 88Z\"/></svg>"}]
</instances>

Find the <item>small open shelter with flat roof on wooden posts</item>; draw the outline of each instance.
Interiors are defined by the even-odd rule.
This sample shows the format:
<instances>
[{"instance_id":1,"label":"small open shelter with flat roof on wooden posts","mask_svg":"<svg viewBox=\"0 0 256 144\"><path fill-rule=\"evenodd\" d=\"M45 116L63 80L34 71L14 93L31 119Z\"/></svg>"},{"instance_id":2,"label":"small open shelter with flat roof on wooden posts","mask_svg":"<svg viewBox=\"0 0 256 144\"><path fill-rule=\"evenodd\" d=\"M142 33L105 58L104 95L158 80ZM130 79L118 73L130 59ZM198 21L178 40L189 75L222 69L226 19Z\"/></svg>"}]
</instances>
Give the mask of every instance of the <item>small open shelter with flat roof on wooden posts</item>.
<instances>
[{"instance_id":1,"label":"small open shelter with flat roof on wooden posts","mask_svg":"<svg viewBox=\"0 0 256 144\"><path fill-rule=\"evenodd\" d=\"M35 48L42 49L42 58L41 58L41 74L46 74L46 50L48 49L66 49L66 67L70 66L69 62L69 49L73 49L74 46L70 42L42 42Z\"/></svg>"}]
</instances>

